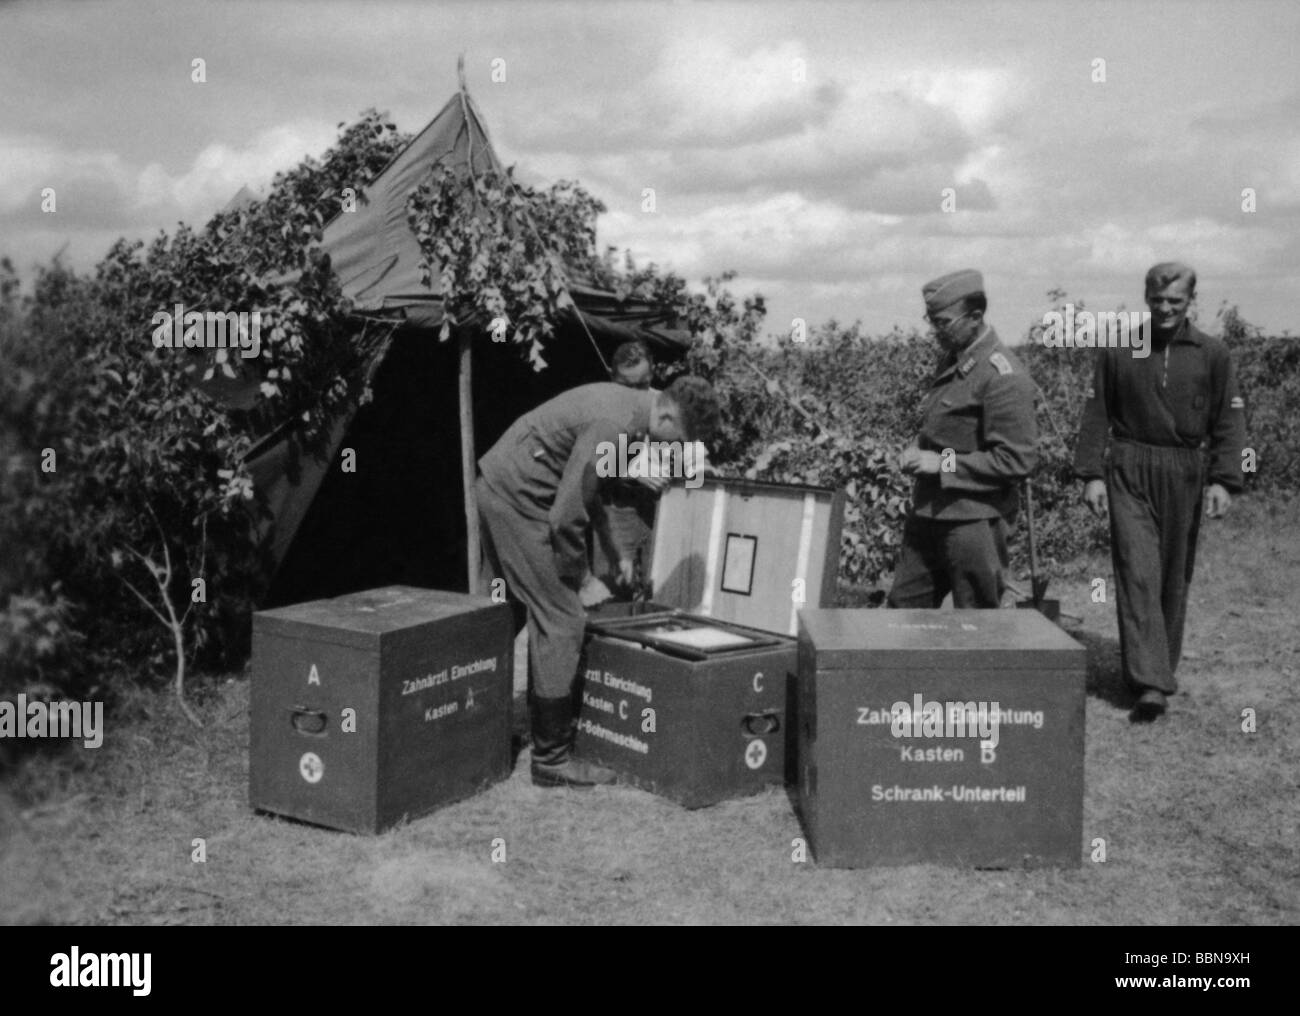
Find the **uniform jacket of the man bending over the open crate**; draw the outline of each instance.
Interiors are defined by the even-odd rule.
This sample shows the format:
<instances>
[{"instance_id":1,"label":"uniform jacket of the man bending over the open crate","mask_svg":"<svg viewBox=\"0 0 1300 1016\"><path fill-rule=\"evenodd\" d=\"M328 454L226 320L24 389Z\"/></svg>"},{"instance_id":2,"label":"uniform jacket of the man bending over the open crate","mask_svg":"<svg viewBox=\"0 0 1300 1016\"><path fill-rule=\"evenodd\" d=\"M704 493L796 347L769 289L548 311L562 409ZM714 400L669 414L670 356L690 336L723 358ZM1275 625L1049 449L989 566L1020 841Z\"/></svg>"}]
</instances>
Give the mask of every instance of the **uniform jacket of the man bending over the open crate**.
<instances>
[{"instance_id":1,"label":"uniform jacket of the man bending over the open crate","mask_svg":"<svg viewBox=\"0 0 1300 1016\"><path fill-rule=\"evenodd\" d=\"M601 382L581 385L524 413L478 460L484 481L524 518L550 527L562 578L586 573L586 530L597 502L602 442L618 448L650 427L654 392Z\"/></svg>"}]
</instances>

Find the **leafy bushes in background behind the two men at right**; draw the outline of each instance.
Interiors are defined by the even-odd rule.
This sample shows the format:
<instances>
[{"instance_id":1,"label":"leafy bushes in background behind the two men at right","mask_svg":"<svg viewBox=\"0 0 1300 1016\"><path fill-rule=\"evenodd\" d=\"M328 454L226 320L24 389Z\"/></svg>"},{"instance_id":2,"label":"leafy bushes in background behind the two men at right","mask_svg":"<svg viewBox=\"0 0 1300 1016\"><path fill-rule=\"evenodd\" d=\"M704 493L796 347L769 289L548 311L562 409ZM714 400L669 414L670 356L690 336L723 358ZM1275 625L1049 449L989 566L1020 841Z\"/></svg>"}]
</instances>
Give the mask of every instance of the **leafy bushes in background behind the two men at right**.
<instances>
[{"instance_id":1,"label":"leafy bushes in background behind the two men at right","mask_svg":"<svg viewBox=\"0 0 1300 1016\"><path fill-rule=\"evenodd\" d=\"M1056 304L1065 299L1061 291L1049 296ZM733 313L732 326L737 322ZM1235 309L1221 312L1218 330L1238 365L1248 442L1260 457L1247 490L1270 496L1292 492L1300 486L1300 426L1292 412L1300 404L1300 342L1261 338ZM724 405L715 464L733 476L844 487L840 578L854 585L880 582L893 568L910 508L911 482L898 472L897 453L919 427L936 346L916 330L868 338L857 324L845 329L835 321L805 343L789 338L759 343L753 338L754 321L744 331L720 347L702 343L688 360L712 381ZM1083 505L1072 468L1093 360L1032 342L1014 349L1039 387L1032 498L1040 568L1060 574L1082 556L1109 547L1106 522ZM1013 572L1022 574L1030 563L1022 511L1011 539Z\"/></svg>"}]
</instances>

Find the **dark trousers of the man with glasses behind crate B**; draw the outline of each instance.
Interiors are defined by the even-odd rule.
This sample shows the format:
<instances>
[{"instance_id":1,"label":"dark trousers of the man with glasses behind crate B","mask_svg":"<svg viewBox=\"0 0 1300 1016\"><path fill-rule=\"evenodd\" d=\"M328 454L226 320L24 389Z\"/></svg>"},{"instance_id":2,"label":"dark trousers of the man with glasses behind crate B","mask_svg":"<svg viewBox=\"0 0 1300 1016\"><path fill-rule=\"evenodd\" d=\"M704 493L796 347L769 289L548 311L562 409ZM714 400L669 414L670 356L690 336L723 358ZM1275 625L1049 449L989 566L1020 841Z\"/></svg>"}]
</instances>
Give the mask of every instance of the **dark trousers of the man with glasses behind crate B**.
<instances>
[{"instance_id":1,"label":"dark trousers of the man with glasses behind crate B","mask_svg":"<svg viewBox=\"0 0 1300 1016\"><path fill-rule=\"evenodd\" d=\"M953 607L997 607L1008 566L1006 520L939 522L911 516L887 605L937 608L953 594Z\"/></svg>"}]
</instances>

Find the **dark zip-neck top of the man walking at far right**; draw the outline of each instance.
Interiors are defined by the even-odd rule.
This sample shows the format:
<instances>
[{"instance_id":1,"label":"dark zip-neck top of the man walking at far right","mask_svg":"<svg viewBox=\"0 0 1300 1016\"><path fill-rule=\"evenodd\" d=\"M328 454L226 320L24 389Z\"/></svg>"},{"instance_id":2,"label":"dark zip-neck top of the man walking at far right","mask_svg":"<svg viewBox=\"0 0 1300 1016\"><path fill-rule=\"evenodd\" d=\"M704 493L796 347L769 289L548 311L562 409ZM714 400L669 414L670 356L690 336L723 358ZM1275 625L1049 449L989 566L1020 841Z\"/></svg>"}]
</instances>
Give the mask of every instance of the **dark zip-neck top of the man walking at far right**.
<instances>
[{"instance_id":1,"label":"dark zip-neck top of the man walking at far right","mask_svg":"<svg viewBox=\"0 0 1300 1016\"><path fill-rule=\"evenodd\" d=\"M1187 321L1162 348L1152 346L1149 356L1098 349L1074 453L1080 478L1102 478L1108 437L1171 448L1208 446L1208 481L1242 490L1245 413L1227 346Z\"/></svg>"}]
</instances>

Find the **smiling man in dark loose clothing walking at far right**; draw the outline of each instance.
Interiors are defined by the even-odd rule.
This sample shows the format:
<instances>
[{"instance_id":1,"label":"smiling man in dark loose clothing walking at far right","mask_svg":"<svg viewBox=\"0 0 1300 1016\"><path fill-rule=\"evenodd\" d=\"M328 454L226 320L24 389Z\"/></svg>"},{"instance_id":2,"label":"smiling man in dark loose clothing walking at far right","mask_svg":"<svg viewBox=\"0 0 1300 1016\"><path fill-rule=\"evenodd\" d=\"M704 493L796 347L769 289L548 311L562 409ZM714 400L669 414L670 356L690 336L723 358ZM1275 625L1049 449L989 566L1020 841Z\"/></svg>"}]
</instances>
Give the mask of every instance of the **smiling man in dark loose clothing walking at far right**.
<instances>
[{"instance_id":1,"label":"smiling man in dark loose clothing walking at far right","mask_svg":"<svg viewBox=\"0 0 1300 1016\"><path fill-rule=\"evenodd\" d=\"M1074 456L1084 502L1098 516L1109 503L1123 677L1139 696L1134 718L1143 721L1164 713L1178 690L1201 505L1218 518L1228 491L1242 489L1244 403L1227 347L1187 320L1195 298L1196 273L1187 265L1162 262L1147 273L1149 355L1097 351Z\"/></svg>"}]
</instances>

